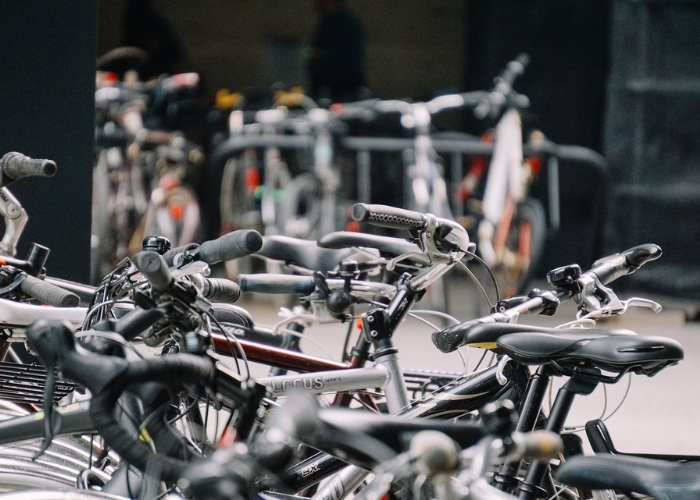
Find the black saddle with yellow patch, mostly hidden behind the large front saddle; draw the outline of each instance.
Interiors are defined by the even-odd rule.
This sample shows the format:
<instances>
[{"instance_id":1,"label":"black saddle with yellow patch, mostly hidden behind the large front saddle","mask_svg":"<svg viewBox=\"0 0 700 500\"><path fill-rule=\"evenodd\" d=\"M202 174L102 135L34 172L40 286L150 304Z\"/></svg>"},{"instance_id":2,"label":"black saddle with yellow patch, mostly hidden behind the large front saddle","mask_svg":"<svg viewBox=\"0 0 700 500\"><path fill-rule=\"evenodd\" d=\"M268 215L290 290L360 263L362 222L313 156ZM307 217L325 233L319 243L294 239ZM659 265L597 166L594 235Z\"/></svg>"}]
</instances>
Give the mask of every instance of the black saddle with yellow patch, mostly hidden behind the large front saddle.
<instances>
[{"instance_id":1,"label":"black saddle with yellow patch, mostly hidden behind the large front saddle","mask_svg":"<svg viewBox=\"0 0 700 500\"><path fill-rule=\"evenodd\" d=\"M557 329L544 326L518 325L517 323L477 323L470 325L455 325L443 330L450 333L459 332L467 341L469 347L480 347L482 349L496 349L496 342L504 335L511 333L529 332L541 333L544 335L559 335L566 333L581 333L580 328ZM611 335L636 335L631 330L624 328L593 328L586 330L590 338L609 337Z\"/></svg>"}]
</instances>

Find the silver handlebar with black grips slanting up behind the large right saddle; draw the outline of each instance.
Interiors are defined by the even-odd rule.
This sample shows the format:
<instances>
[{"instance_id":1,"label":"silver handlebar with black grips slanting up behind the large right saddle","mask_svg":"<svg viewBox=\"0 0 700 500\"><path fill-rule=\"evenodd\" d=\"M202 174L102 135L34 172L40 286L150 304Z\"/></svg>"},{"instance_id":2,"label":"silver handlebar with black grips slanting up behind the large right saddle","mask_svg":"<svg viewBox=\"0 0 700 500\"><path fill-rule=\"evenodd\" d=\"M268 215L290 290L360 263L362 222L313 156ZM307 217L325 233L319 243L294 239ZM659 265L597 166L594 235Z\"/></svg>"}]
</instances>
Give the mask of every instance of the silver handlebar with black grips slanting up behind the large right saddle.
<instances>
[{"instance_id":1,"label":"silver handlebar with black grips slanting up behind the large right saddle","mask_svg":"<svg viewBox=\"0 0 700 500\"><path fill-rule=\"evenodd\" d=\"M603 257L593 263L593 267L583 273L578 279L594 278L600 280L602 284L610 283L621 276L632 274L646 262L658 259L661 256L661 248L658 245L648 243L632 247L624 252ZM477 325L484 323L508 323L520 316L542 310L548 303L547 299L560 299L569 297L566 290L558 290L546 294L531 297L528 300L508 309L505 312L495 312L481 318L460 323L459 325L445 328L432 334L432 341L435 347L441 352L454 352L458 348L466 345L469 332Z\"/></svg>"}]
</instances>

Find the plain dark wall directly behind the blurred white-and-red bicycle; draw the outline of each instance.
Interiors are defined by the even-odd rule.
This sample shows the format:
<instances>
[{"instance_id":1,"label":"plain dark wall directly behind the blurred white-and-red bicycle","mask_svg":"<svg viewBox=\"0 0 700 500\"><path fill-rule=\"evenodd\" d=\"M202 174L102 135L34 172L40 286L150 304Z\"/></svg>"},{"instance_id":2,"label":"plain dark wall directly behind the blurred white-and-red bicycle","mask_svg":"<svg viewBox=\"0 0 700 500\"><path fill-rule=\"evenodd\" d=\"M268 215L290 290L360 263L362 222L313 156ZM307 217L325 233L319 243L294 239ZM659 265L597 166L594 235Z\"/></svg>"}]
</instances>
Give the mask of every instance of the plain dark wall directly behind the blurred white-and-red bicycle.
<instances>
[{"instance_id":1,"label":"plain dark wall directly behind the blurred white-and-red bicycle","mask_svg":"<svg viewBox=\"0 0 700 500\"><path fill-rule=\"evenodd\" d=\"M608 0L471 0L467 89L484 89L521 52L530 55L516 90L530 98L524 124L559 144L602 149L609 73ZM561 229L550 234L542 270L592 262L602 252L605 178L560 165ZM543 179L544 180L544 179ZM546 200L545 186L534 192Z\"/></svg>"}]
</instances>

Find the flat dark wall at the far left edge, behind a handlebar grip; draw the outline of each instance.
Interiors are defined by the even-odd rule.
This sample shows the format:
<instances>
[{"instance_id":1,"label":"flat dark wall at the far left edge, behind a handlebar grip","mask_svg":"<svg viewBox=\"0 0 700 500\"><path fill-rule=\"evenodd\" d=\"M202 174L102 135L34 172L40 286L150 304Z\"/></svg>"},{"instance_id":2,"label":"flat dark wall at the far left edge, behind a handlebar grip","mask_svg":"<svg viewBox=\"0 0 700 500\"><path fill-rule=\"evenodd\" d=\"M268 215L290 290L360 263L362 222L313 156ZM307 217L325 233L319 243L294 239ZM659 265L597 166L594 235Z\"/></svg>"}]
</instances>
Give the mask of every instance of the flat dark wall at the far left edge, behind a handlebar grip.
<instances>
[{"instance_id":1,"label":"flat dark wall at the far left edge, behind a handlebar grip","mask_svg":"<svg viewBox=\"0 0 700 500\"><path fill-rule=\"evenodd\" d=\"M11 191L29 213L21 242L51 248L53 276L87 282L97 2L0 2L0 153L56 161Z\"/></svg>"}]
</instances>

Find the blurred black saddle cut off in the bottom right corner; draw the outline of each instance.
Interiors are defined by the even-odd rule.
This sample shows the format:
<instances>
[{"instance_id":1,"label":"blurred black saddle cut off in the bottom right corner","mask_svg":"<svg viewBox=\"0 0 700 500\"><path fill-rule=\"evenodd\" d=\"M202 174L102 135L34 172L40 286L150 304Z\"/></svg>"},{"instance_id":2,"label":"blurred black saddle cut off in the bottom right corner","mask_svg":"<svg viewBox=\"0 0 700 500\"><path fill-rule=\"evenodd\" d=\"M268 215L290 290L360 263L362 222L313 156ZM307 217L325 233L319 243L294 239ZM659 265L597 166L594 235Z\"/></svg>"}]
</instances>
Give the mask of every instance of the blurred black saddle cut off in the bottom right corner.
<instances>
[{"instance_id":1,"label":"blurred black saddle cut off in the bottom right corner","mask_svg":"<svg viewBox=\"0 0 700 500\"><path fill-rule=\"evenodd\" d=\"M700 498L700 463L677 463L611 455L577 456L556 473L570 486L590 490L615 489L657 499Z\"/></svg>"}]
</instances>

